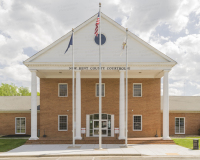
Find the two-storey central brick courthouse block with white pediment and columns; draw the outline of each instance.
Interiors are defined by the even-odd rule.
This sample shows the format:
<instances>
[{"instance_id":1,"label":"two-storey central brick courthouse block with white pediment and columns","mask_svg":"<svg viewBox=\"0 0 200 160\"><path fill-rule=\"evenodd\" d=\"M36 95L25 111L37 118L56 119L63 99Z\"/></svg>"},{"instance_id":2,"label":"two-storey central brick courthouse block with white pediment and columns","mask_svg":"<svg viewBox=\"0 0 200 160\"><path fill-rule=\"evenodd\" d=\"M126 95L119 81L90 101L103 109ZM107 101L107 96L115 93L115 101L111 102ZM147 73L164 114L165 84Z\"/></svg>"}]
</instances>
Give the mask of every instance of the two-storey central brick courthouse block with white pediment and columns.
<instances>
[{"instance_id":1,"label":"two-storey central brick courthouse block with white pediment and columns","mask_svg":"<svg viewBox=\"0 0 200 160\"><path fill-rule=\"evenodd\" d=\"M99 134L99 41L94 35L96 18L97 14L74 29L77 140L83 139L82 133L87 139L98 139ZM102 137L114 139L117 136L117 139L123 140L126 54L121 46L126 29L102 13L101 32ZM42 137L44 131L48 138L72 138L72 47L64 54L71 34L67 33L24 61L32 76L30 140ZM182 112L170 115L173 120L170 119L169 124L168 74L177 63L130 31L127 46L128 138L154 137L157 134L167 140L169 134L185 134L185 118L178 114ZM36 77L40 79L39 113ZM23 117L18 119L18 128L22 122ZM37 135L38 129L40 137ZM191 132L194 133L197 132Z\"/></svg>"}]
</instances>

